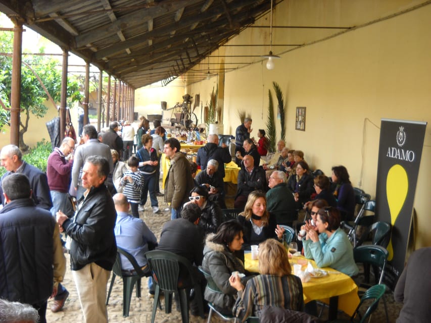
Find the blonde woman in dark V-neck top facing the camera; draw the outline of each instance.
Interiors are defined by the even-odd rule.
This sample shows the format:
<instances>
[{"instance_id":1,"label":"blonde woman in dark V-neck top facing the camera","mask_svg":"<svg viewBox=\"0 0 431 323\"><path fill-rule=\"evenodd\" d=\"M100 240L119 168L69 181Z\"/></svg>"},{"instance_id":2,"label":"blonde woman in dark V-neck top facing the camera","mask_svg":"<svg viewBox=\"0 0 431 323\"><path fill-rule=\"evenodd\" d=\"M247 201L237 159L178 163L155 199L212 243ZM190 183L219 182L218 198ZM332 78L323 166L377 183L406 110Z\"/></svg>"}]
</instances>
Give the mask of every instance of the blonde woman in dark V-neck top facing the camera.
<instances>
[{"instance_id":1,"label":"blonde woman in dark V-neck top facing the camera","mask_svg":"<svg viewBox=\"0 0 431 323\"><path fill-rule=\"evenodd\" d=\"M238 216L238 221L244 228L243 250L250 250L250 246L259 244L268 238L283 237L284 229L277 225L275 216L271 216L266 209L266 197L262 191L249 194L244 212Z\"/></svg>"}]
</instances>

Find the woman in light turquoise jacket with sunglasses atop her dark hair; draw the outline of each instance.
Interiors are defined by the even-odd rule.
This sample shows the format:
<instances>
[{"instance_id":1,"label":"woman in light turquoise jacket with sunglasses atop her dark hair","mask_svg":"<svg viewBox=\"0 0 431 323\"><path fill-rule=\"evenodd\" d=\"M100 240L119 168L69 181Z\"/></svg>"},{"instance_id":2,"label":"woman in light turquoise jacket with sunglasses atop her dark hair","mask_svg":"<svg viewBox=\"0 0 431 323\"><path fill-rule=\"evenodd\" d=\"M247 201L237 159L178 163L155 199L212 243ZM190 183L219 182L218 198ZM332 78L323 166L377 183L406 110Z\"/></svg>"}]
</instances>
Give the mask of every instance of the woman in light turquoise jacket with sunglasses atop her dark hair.
<instances>
[{"instance_id":1,"label":"woman in light turquoise jacket with sunglasses atop her dark hair","mask_svg":"<svg viewBox=\"0 0 431 323\"><path fill-rule=\"evenodd\" d=\"M319 209L316 227L319 234L309 228L303 240L305 257L313 258L319 267L331 267L348 276L357 275L359 270L352 244L340 228L340 211L331 206Z\"/></svg>"}]
</instances>

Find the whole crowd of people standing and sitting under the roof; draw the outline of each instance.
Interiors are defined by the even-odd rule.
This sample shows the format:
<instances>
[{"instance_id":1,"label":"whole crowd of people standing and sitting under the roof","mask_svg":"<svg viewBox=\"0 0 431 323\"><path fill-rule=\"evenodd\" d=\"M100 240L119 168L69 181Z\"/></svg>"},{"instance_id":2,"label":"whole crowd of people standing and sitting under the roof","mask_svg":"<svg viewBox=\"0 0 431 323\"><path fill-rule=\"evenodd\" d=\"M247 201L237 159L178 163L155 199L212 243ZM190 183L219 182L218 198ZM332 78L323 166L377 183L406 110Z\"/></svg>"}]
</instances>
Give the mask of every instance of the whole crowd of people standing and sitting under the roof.
<instances>
[{"instance_id":1,"label":"whole crowd of people standing and sitting under the roof","mask_svg":"<svg viewBox=\"0 0 431 323\"><path fill-rule=\"evenodd\" d=\"M8 245L9 250L0 250L0 270L7 275L0 283L0 298L11 301L8 306L15 306L16 301L30 304L40 322L46 321L48 298L54 297L53 312L62 310L69 295L61 284L66 271L63 250L67 249L84 321L108 321L107 283L118 246L148 276L147 251L165 250L185 257L205 290L201 301L242 321L261 315L267 306L307 310L301 280L292 274L282 244L282 226L293 226L298 211L306 209L311 218L298 227L297 236L305 257L314 259L319 267L357 275L352 245L340 228L342 220L354 215L349 174L345 167L336 166L331 181L324 175L315 176L304 153L289 150L283 141L260 166L268 142L262 129L259 142L250 138L251 124L246 118L236 129L235 157L241 170L234 207L241 212L229 221L224 221L222 213L226 208L223 165L232 157L214 134L198 150L199 173L181 152L180 142L164 138L166 131L159 122L154 123L154 131L149 130L145 118L139 123L135 151L131 149L134 129L127 129L130 123L124 122L122 139L117 122L103 134L84 125L79 145L66 137L54 149L46 174L25 163L17 146L3 147L0 159L7 173L0 180L4 205L0 244ZM170 160L163 194L159 190L162 152ZM163 226L159 239L139 217L148 195L154 214L160 212L158 196L163 195L170 204L171 221ZM252 245L259 245L259 273L244 267L244 253ZM124 256L121 266L133 275ZM219 291L205 288L198 266ZM182 287L190 284L181 271L180 281ZM151 277L148 288L154 295ZM411 294L402 294L401 287L398 291L400 298ZM198 301L195 295L191 314L199 314Z\"/></svg>"}]
</instances>

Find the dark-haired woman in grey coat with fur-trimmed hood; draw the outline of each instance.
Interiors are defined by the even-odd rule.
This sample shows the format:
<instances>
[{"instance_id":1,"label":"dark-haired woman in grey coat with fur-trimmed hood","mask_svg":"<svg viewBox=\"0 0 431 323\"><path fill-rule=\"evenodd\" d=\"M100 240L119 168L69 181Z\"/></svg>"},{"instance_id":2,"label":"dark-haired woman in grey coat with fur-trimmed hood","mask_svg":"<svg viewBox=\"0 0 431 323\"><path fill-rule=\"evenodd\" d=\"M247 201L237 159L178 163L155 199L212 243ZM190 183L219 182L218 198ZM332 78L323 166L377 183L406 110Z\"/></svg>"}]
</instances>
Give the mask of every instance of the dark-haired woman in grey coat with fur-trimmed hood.
<instances>
[{"instance_id":1,"label":"dark-haired woman in grey coat with fur-trimmed hood","mask_svg":"<svg viewBox=\"0 0 431 323\"><path fill-rule=\"evenodd\" d=\"M230 286L229 277L233 272L246 274L243 262L234 255L235 251L241 250L243 242L243 226L236 220L222 223L217 234L209 234L206 238L202 268L211 274L222 293L207 287L204 297L223 314L232 314L235 303L236 289Z\"/></svg>"}]
</instances>

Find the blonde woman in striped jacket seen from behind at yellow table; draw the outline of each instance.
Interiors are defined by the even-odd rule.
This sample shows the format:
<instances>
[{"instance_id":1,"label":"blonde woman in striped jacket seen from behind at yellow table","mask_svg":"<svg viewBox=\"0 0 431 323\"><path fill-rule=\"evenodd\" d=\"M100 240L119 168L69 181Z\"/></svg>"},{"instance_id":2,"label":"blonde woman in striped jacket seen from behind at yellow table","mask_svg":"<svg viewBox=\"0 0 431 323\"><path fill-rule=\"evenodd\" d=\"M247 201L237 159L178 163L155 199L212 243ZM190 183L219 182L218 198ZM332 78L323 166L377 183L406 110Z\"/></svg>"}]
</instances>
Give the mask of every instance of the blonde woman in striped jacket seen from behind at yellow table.
<instances>
[{"instance_id":1,"label":"blonde woman in striped jacket seen from behind at yellow table","mask_svg":"<svg viewBox=\"0 0 431 323\"><path fill-rule=\"evenodd\" d=\"M232 310L236 317L244 321L249 316L259 316L265 306L304 309L301 280L292 275L288 252L275 239L259 245L259 272L246 286L237 274L229 278L230 285L238 291Z\"/></svg>"}]
</instances>

